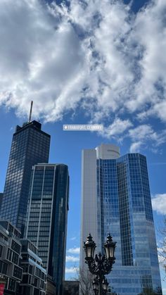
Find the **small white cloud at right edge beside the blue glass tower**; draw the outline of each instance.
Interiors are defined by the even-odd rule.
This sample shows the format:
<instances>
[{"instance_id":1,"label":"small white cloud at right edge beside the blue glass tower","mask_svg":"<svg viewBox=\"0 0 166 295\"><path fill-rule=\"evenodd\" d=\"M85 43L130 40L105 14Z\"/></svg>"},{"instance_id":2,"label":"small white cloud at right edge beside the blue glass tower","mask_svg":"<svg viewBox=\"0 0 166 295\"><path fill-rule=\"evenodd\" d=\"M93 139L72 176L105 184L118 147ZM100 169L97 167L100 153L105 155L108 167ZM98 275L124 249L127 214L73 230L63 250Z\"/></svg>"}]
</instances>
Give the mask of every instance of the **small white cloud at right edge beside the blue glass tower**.
<instances>
[{"instance_id":1,"label":"small white cloud at right edge beside the blue glass tower","mask_svg":"<svg viewBox=\"0 0 166 295\"><path fill-rule=\"evenodd\" d=\"M153 210L166 214L166 194L156 194L152 199Z\"/></svg>"}]
</instances>

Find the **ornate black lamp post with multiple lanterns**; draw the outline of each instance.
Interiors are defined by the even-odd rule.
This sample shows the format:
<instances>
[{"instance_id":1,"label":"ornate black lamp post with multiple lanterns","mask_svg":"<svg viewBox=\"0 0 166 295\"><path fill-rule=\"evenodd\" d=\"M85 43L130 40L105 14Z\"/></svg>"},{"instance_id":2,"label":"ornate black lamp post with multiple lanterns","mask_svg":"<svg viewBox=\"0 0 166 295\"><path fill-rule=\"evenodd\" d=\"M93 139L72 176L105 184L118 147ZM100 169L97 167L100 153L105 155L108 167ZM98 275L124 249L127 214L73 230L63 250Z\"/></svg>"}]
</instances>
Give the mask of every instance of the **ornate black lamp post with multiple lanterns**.
<instances>
[{"instance_id":1,"label":"ornate black lamp post with multiple lanterns","mask_svg":"<svg viewBox=\"0 0 166 295\"><path fill-rule=\"evenodd\" d=\"M106 243L103 245L105 254L101 252L96 254L94 258L94 251L96 244L93 241L91 234L87 237L87 241L84 242L85 261L88 264L89 271L96 275L93 282L94 294L103 295L108 293L108 282L105 275L108 275L113 268L115 263L115 246L116 241L113 241L110 234L108 234Z\"/></svg>"}]
</instances>

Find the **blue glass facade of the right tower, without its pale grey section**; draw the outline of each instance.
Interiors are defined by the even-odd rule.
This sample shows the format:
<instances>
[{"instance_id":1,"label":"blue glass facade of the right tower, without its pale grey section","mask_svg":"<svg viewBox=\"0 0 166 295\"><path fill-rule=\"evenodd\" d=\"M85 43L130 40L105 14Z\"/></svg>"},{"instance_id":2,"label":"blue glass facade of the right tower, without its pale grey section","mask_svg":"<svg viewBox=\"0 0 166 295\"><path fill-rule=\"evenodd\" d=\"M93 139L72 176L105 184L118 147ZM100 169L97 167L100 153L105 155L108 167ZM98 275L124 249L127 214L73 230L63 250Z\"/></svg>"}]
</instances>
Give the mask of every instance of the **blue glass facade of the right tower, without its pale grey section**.
<instances>
[{"instance_id":1,"label":"blue glass facade of the right tower, without its pale grey section","mask_svg":"<svg viewBox=\"0 0 166 295\"><path fill-rule=\"evenodd\" d=\"M109 232L117 241L113 290L136 295L161 287L146 157L97 159L97 203L99 249Z\"/></svg>"}]
</instances>

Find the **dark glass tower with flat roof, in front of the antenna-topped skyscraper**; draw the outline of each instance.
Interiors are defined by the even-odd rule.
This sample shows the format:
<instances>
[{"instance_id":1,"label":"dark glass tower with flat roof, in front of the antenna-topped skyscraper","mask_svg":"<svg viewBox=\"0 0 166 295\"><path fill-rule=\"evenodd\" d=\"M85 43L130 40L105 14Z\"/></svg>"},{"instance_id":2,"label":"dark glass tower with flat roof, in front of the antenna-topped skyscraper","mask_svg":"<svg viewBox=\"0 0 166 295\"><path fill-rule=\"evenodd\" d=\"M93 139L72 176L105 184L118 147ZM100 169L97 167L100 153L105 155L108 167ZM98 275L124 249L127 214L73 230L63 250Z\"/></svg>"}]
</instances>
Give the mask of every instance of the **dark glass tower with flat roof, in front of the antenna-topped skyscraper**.
<instances>
[{"instance_id":1,"label":"dark glass tower with flat roof, in front of the antenna-topped skyscraper","mask_svg":"<svg viewBox=\"0 0 166 295\"><path fill-rule=\"evenodd\" d=\"M65 279L68 189L67 165L38 164L32 168L26 238L37 246L58 295L63 294Z\"/></svg>"}]
</instances>

